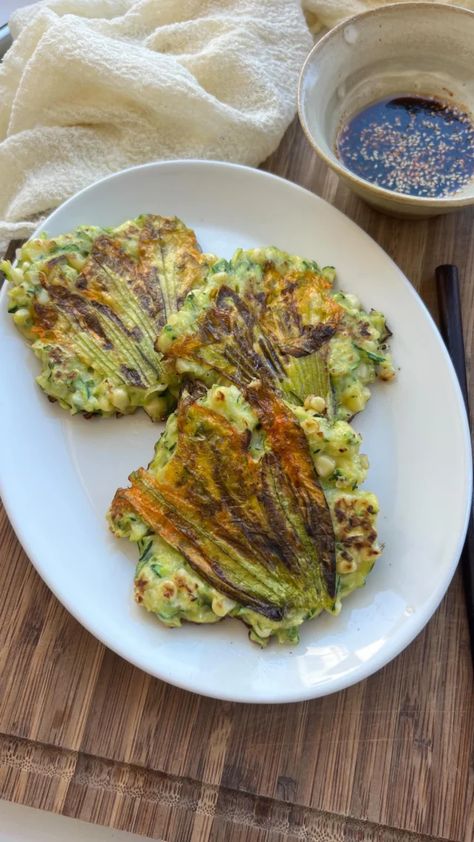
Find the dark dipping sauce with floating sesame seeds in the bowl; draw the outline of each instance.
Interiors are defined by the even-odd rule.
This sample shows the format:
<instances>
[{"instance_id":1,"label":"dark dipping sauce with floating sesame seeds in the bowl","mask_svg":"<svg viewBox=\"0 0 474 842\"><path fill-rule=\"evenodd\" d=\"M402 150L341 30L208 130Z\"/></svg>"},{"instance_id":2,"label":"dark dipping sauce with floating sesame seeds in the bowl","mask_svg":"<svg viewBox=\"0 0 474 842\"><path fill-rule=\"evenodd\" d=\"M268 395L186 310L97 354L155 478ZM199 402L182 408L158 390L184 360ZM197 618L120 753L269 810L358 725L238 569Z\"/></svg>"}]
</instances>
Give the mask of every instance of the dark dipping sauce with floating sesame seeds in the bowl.
<instances>
[{"instance_id":1,"label":"dark dipping sauce with floating sesame seeds in the bowl","mask_svg":"<svg viewBox=\"0 0 474 842\"><path fill-rule=\"evenodd\" d=\"M472 118L437 99L375 102L341 129L336 146L355 175L411 196L447 196L474 174Z\"/></svg>"}]
</instances>

